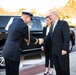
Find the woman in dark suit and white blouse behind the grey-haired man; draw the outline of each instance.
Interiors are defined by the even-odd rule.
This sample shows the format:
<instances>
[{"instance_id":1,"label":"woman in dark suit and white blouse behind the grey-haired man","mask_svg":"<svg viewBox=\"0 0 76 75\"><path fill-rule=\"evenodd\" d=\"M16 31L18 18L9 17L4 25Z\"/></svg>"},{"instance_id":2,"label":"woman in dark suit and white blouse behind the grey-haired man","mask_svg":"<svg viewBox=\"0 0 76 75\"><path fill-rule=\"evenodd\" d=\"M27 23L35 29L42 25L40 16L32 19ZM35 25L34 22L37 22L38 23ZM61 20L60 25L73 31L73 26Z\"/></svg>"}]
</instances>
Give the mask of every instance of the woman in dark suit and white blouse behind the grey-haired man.
<instances>
[{"instance_id":1,"label":"woman in dark suit and white blouse behind the grey-haired man","mask_svg":"<svg viewBox=\"0 0 76 75\"><path fill-rule=\"evenodd\" d=\"M48 35L50 31L50 27L52 25L51 19L49 16L46 17L46 26L43 28L43 38ZM52 43L50 42L51 39L48 41L44 41L44 46L42 46L42 50L44 50L45 54L45 72L44 75L52 75L53 72L53 60L52 60Z\"/></svg>"}]
</instances>

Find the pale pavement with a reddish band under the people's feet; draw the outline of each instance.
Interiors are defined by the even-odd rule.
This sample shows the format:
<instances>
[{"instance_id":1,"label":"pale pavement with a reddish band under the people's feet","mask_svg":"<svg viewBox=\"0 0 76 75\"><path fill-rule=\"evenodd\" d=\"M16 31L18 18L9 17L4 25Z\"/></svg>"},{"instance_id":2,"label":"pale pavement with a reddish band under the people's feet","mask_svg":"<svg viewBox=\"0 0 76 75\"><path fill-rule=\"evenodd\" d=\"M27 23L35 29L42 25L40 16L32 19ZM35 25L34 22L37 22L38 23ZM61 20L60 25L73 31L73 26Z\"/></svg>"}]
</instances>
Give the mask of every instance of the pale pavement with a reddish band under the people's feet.
<instances>
[{"instance_id":1,"label":"pale pavement with a reddish band under the people's feet","mask_svg":"<svg viewBox=\"0 0 76 75\"><path fill-rule=\"evenodd\" d=\"M44 56L21 61L19 75L43 75L45 71L44 61ZM6 75L5 69L3 71L0 69L0 75ZM55 69L53 75L56 75ZM70 53L70 75L76 75L76 52Z\"/></svg>"}]
</instances>

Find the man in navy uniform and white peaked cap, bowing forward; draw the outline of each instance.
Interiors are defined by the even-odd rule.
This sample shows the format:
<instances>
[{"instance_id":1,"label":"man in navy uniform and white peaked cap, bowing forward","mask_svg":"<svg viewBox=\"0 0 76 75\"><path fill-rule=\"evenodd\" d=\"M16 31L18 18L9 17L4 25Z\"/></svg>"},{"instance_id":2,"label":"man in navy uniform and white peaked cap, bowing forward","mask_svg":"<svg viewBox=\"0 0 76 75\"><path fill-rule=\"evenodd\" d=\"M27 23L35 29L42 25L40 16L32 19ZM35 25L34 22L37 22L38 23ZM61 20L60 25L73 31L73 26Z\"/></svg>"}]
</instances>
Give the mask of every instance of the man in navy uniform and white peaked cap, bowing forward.
<instances>
[{"instance_id":1,"label":"man in navy uniform and white peaked cap, bowing forward","mask_svg":"<svg viewBox=\"0 0 76 75\"><path fill-rule=\"evenodd\" d=\"M32 18L32 12L23 11L21 18L14 21L9 27L7 40L2 50L2 56L5 58L6 75L19 75L21 46L24 39L27 44L30 41L34 44L41 43L42 41L30 36L27 23Z\"/></svg>"}]
</instances>

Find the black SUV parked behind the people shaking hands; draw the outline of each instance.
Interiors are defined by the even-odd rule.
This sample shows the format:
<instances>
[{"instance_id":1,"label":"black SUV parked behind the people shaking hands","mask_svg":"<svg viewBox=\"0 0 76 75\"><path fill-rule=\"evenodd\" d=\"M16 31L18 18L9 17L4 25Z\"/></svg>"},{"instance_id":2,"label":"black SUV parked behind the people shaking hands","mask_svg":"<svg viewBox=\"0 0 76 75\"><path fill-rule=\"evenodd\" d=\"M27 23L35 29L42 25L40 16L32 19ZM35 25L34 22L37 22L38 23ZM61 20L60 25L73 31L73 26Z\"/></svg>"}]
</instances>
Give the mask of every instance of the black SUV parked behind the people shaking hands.
<instances>
[{"instance_id":1,"label":"black SUV parked behind the people shaking hands","mask_svg":"<svg viewBox=\"0 0 76 75\"><path fill-rule=\"evenodd\" d=\"M6 15L0 16L0 66L1 67L4 67L4 59L3 57L1 57L1 52L8 35L8 31L5 29L7 29L10 23L17 20L18 18L20 18L20 16L6 16ZM29 26L30 26L31 35L33 35L36 38L42 38L43 27L45 26L45 18L34 16ZM74 45L75 45L75 34L73 30L70 30L70 43L69 43L70 51L72 50ZM29 46L26 46L25 43L23 44L22 55L27 56L30 54L36 54L41 52L42 50L40 48L40 45L38 44L37 45L30 44Z\"/></svg>"}]
</instances>

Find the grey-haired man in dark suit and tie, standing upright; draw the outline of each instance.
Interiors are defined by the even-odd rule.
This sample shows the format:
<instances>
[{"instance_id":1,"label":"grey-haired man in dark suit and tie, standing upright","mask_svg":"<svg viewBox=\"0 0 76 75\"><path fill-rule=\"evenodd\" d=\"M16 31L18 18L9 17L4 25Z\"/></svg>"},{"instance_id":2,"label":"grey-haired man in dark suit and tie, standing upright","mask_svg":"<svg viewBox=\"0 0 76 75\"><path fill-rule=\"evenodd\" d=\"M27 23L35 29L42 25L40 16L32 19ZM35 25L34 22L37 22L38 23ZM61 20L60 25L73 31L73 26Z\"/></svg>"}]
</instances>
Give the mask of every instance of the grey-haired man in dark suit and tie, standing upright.
<instances>
[{"instance_id":1,"label":"grey-haired man in dark suit and tie, standing upright","mask_svg":"<svg viewBox=\"0 0 76 75\"><path fill-rule=\"evenodd\" d=\"M50 13L50 19L54 22L45 41L52 40L52 55L55 65L56 75L70 75L69 68L69 40L70 29L68 23L59 20L58 13Z\"/></svg>"}]
</instances>

